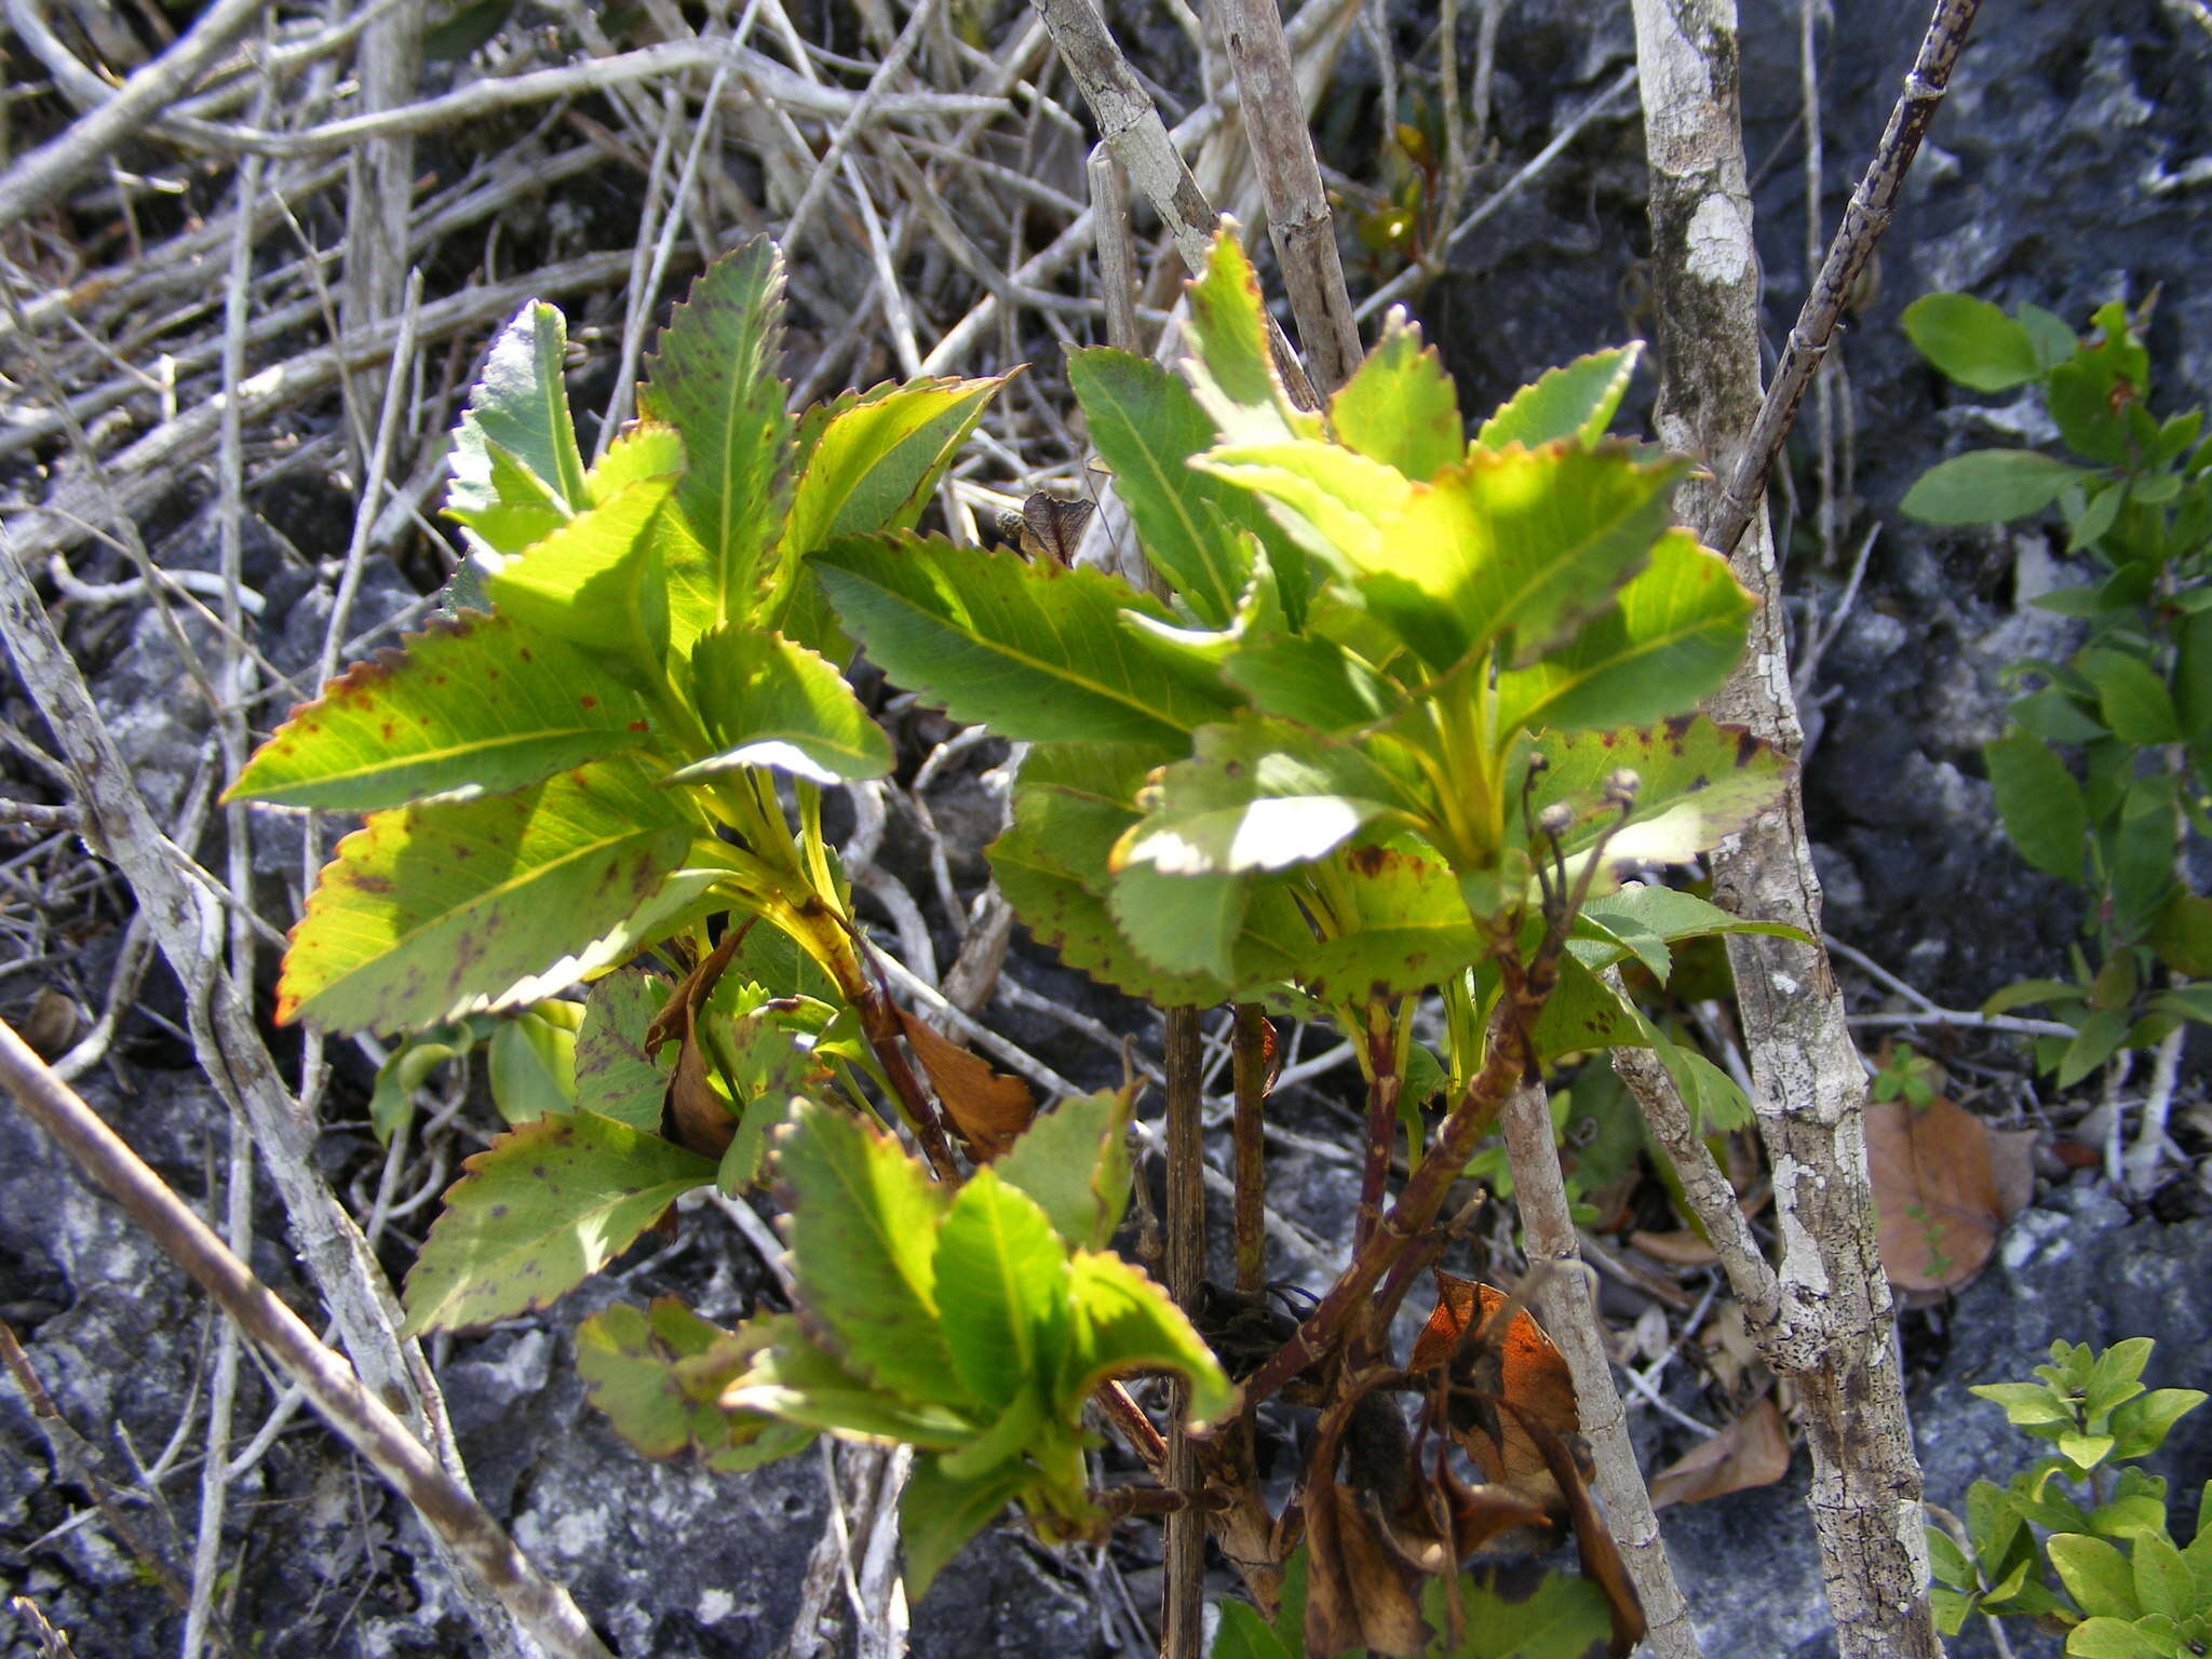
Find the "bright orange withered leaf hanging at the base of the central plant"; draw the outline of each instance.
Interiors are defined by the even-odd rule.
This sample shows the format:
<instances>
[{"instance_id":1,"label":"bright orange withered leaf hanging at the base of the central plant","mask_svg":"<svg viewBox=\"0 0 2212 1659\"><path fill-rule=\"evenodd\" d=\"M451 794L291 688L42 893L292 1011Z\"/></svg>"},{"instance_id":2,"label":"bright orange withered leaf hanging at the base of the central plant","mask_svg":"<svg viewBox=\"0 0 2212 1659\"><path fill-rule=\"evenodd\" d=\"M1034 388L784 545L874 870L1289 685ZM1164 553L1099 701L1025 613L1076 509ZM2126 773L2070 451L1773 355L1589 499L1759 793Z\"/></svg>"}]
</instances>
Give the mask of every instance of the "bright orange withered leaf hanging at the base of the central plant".
<instances>
[{"instance_id":1,"label":"bright orange withered leaf hanging at the base of the central plant","mask_svg":"<svg viewBox=\"0 0 2212 1659\"><path fill-rule=\"evenodd\" d=\"M1429 1371L1449 1363L1451 1436L1475 1469L1484 1480L1555 1502L1562 1493L1551 1480L1551 1460L1524 1422L1533 1420L1555 1436L1579 1433L1575 1378L1526 1310L1515 1307L1511 1321L1498 1327L1509 1301L1493 1285L1438 1267L1436 1312L1413 1343L1409 1369Z\"/></svg>"}]
</instances>

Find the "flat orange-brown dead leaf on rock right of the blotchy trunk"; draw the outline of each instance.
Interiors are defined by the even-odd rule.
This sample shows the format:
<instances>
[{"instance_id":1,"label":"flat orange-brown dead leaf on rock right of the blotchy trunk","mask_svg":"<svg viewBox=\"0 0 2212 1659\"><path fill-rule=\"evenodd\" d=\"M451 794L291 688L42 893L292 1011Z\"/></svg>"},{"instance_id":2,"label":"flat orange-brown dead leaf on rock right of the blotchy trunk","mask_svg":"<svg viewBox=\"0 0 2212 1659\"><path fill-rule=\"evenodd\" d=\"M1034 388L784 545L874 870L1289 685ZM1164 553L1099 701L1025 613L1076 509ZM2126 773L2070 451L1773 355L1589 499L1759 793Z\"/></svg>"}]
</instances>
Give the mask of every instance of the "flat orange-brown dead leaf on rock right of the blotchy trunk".
<instances>
[{"instance_id":1,"label":"flat orange-brown dead leaf on rock right of the blotchy trunk","mask_svg":"<svg viewBox=\"0 0 2212 1659\"><path fill-rule=\"evenodd\" d=\"M1942 1095L1918 1108L1874 1102L1867 1166L1891 1285L1955 1290L1982 1270L2004 1208L1980 1117Z\"/></svg>"}]
</instances>

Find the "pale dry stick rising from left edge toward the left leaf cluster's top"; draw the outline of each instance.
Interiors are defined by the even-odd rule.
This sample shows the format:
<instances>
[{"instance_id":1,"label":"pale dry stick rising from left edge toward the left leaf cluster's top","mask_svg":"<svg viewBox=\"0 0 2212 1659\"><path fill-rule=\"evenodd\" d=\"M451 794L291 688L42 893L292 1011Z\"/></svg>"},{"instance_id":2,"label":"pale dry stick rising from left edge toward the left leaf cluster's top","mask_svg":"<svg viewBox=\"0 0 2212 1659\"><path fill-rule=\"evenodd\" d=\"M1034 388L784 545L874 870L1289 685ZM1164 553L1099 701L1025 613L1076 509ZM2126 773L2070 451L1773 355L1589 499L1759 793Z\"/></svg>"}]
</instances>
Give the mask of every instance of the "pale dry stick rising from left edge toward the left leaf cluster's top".
<instances>
[{"instance_id":1,"label":"pale dry stick rising from left edge toward the left leaf cluster's top","mask_svg":"<svg viewBox=\"0 0 2212 1659\"><path fill-rule=\"evenodd\" d=\"M416 338L427 343L462 330L504 323L526 299L557 299L604 288L617 281L628 263L628 250L582 254L557 265L542 265L518 281L449 294L422 307ZM338 380L341 365L356 369L385 363L396 336L398 321L392 319L363 334L341 338L336 345L321 345L250 374L239 387L239 409L248 422L254 422L321 394ZM164 420L108 460L115 500L124 513L142 513L175 489L177 476L199 462L215 442L221 411L223 394L217 394L179 411L175 420ZM33 522L13 529L15 557L46 557L73 549L91 533L88 520L100 511L102 495L91 480L64 478L31 511Z\"/></svg>"}]
</instances>

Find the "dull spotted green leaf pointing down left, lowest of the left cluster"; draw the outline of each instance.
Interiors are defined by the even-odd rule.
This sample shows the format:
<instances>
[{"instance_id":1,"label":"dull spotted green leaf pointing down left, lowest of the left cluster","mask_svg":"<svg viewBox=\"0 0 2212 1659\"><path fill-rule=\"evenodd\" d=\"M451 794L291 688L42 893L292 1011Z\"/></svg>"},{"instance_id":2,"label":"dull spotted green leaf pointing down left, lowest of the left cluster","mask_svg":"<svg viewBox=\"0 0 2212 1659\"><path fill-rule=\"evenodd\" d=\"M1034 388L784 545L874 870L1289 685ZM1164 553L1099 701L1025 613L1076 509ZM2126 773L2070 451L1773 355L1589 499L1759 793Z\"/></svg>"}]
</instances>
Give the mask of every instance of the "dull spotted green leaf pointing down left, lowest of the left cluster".
<instances>
[{"instance_id":1,"label":"dull spotted green leaf pointing down left, lowest of the left cluster","mask_svg":"<svg viewBox=\"0 0 2212 1659\"><path fill-rule=\"evenodd\" d=\"M546 1307L714 1179L697 1152L595 1113L511 1128L462 1170L407 1274L409 1334Z\"/></svg>"}]
</instances>

